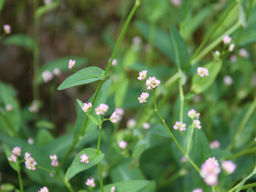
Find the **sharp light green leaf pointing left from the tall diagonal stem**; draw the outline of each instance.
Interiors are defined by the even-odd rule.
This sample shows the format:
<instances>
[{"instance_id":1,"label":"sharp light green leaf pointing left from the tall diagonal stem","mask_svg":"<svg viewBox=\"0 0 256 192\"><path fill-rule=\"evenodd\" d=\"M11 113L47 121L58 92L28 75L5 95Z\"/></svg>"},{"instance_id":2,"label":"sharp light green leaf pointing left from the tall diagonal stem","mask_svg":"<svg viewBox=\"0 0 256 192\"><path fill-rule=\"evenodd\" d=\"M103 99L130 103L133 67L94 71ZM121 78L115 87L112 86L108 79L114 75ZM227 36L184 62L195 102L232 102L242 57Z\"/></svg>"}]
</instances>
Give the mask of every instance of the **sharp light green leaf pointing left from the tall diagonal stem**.
<instances>
[{"instance_id":1,"label":"sharp light green leaf pointing left from the tall diagonal stem","mask_svg":"<svg viewBox=\"0 0 256 192\"><path fill-rule=\"evenodd\" d=\"M79 70L77 73L70 75L68 78L63 81L58 90L67 89L69 87L84 85L98 81L100 79L106 78L102 77L104 70L99 67L86 67Z\"/></svg>"}]
</instances>

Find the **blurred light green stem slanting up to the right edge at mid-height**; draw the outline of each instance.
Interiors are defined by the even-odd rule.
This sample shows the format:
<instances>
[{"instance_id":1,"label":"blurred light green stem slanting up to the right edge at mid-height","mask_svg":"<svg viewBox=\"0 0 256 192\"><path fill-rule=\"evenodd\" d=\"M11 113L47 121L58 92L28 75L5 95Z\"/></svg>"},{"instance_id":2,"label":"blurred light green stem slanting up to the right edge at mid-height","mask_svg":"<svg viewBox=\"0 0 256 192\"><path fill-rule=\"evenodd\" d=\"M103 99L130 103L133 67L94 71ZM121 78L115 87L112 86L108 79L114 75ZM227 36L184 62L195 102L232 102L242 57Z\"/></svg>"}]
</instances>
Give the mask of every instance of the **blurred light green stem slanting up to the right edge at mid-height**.
<instances>
[{"instance_id":1,"label":"blurred light green stem slanting up to the right edge at mid-height","mask_svg":"<svg viewBox=\"0 0 256 192\"><path fill-rule=\"evenodd\" d=\"M249 121L249 118L251 117L255 108L256 108L256 97L254 98L250 108L247 110L247 112L246 112L244 118L242 119L241 123L239 124L239 126L237 128L237 131L236 131L236 134L234 136L233 142L231 142L230 145L227 148L228 150L231 150L234 147L235 143L240 139L240 135L243 132L244 127L247 124L247 122Z\"/></svg>"}]
</instances>

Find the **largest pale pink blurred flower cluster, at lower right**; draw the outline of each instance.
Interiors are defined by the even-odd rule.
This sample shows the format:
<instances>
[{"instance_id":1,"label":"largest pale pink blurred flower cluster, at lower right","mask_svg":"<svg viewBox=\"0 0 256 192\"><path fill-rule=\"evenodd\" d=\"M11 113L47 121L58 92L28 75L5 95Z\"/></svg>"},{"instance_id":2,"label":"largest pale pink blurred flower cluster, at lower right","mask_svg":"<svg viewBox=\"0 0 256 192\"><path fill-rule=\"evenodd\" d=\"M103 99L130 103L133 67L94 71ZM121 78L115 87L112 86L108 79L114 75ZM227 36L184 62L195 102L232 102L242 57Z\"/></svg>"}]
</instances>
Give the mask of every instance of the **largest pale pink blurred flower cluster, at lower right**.
<instances>
[{"instance_id":1,"label":"largest pale pink blurred flower cluster, at lower right","mask_svg":"<svg viewBox=\"0 0 256 192\"><path fill-rule=\"evenodd\" d=\"M201 177L209 186L218 185L218 174L220 173L220 166L215 157L208 158L201 166Z\"/></svg>"}]
</instances>

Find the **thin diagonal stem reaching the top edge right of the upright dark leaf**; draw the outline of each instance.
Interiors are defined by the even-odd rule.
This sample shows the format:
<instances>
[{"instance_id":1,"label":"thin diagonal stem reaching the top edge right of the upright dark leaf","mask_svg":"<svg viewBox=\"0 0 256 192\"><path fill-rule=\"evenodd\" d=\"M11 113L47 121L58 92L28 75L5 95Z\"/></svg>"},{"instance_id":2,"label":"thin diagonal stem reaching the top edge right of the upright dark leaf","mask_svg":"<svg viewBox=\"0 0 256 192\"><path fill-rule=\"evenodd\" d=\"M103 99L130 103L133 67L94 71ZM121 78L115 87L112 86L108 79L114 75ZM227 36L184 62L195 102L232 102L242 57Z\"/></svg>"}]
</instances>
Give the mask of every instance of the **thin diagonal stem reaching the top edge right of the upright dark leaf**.
<instances>
[{"instance_id":1,"label":"thin diagonal stem reaching the top edge right of the upright dark leaf","mask_svg":"<svg viewBox=\"0 0 256 192\"><path fill-rule=\"evenodd\" d=\"M190 61L192 61L197 56L197 54L203 49L204 45L209 41L209 39L214 34L214 32L220 27L222 22L228 17L229 13L234 9L234 7L237 5L237 3L238 3L238 0L236 0L236 2L232 6L230 6L230 8L223 15L223 17L220 19L220 21L213 27L213 29L210 31L210 33L204 38L204 41L198 46L195 53L192 55L189 62L187 63L186 67L188 67Z\"/></svg>"}]
</instances>

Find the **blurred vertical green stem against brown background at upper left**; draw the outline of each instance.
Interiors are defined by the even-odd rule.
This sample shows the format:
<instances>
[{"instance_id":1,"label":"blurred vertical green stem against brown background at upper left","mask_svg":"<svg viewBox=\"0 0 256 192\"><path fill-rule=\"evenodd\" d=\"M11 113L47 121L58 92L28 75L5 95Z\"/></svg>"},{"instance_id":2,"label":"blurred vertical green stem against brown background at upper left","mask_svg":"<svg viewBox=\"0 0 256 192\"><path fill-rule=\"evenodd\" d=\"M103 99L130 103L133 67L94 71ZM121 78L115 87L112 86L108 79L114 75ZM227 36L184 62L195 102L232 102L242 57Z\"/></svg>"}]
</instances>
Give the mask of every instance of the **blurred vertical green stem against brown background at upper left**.
<instances>
[{"instance_id":1,"label":"blurred vertical green stem against brown background at upper left","mask_svg":"<svg viewBox=\"0 0 256 192\"><path fill-rule=\"evenodd\" d=\"M38 7L38 0L33 0L34 9L34 71L33 71L33 99L39 98L39 87L38 87L38 68L39 68L39 19L36 17L36 10Z\"/></svg>"}]
</instances>

